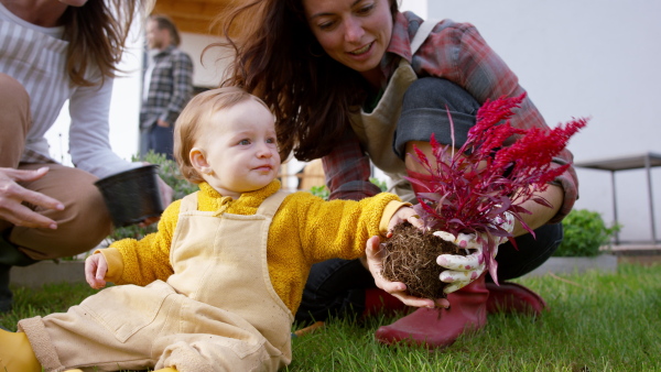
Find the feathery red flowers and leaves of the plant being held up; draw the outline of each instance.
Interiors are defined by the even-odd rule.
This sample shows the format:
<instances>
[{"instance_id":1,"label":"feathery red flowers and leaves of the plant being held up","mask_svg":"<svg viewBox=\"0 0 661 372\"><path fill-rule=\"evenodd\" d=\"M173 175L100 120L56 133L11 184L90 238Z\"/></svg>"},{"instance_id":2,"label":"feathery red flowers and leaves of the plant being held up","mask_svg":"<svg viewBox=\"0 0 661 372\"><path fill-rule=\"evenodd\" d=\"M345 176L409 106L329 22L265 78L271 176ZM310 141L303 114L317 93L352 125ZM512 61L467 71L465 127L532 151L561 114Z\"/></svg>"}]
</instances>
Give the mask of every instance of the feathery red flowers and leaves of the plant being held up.
<instances>
[{"instance_id":1,"label":"feathery red flowers and leaves of the plant being held up","mask_svg":"<svg viewBox=\"0 0 661 372\"><path fill-rule=\"evenodd\" d=\"M495 221L505 221L505 212L510 212L534 236L521 218L521 214L530 214L522 204L534 200L551 207L548 200L535 194L544 192L549 182L571 166L552 161L566 147L570 138L587 124L587 119L574 119L554 129L513 128L509 118L524 96L487 100L477 113L476 124L468 132L466 143L458 151L453 151L454 146L438 144L432 134L430 144L435 164L431 164L418 147L414 149L416 161L431 174L432 180L405 177L429 190L418 194L420 204L413 207L426 229L454 236L459 232L485 233L486 242L480 234L477 237L478 241L486 243L483 254L496 283L495 238L510 238L512 234ZM499 216L501 219L497 219Z\"/></svg>"}]
</instances>

